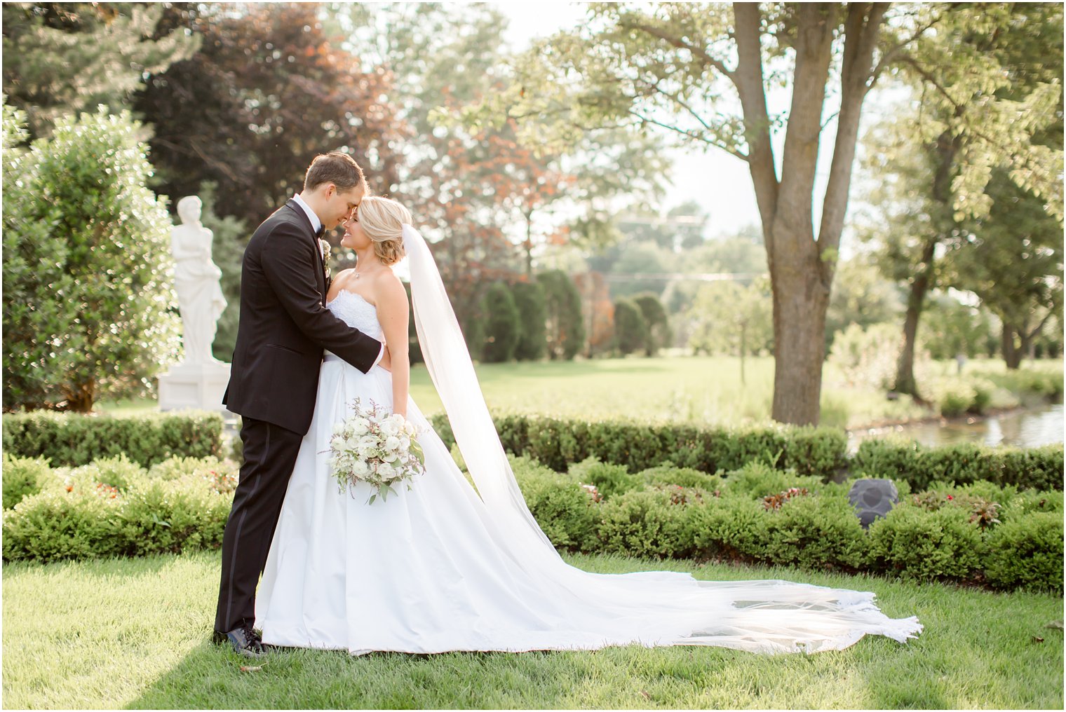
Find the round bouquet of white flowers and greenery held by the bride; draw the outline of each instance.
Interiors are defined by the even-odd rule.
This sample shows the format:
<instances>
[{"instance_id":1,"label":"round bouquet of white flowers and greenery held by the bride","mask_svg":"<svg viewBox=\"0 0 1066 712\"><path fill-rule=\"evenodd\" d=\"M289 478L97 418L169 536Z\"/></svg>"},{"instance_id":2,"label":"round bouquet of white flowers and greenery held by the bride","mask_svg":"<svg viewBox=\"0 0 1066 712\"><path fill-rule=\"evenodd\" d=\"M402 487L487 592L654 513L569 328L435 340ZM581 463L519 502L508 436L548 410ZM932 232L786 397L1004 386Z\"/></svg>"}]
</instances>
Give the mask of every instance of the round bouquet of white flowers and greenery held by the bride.
<instances>
[{"instance_id":1,"label":"round bouquet of white flowers and greenery held by the bride","mask_svg":"<svg viewBox=\"0 0 1066 712\"><path fill-rule=\"evenodd\" d=\"M370 407L352 402L355 411L334 425L329 440L329 467L341 489L366 482L377 491L367 504L373 504L378 495L385 501L392 485L407 482L425 470L425 455L415 439L415 425L398 412L388 415L373 401Z\"/></svg>"}]
</instances>

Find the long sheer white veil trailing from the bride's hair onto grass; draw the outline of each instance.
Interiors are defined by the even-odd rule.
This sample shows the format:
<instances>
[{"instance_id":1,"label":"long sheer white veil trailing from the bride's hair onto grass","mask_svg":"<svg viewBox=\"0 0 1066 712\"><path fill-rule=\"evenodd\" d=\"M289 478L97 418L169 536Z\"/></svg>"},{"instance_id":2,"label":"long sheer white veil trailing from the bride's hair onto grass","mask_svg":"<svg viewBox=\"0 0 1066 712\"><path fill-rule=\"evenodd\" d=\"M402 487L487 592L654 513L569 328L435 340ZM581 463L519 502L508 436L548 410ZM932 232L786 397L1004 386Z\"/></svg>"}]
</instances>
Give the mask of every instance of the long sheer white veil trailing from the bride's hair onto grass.
<instances>
[{"instance_id":1,"label":"long sheer white veil trailing from the bride's hair onto grass","mask_svg":"<svg viewBox=\"0 0 1066 712\"><path fill-rule=\"evenodd\" d=\"M697 581L688 573L588 573L566 564L526 505L485 405L466 341L425 240L403 226L419 345L496 544L560 598L553 630L604 644L713 645L754 652L845 648L863 635L904 642L916 617L892 619L873 594L788 581ZM586 646L575 646L586 647Z\"/></svg>"}]
</instances>

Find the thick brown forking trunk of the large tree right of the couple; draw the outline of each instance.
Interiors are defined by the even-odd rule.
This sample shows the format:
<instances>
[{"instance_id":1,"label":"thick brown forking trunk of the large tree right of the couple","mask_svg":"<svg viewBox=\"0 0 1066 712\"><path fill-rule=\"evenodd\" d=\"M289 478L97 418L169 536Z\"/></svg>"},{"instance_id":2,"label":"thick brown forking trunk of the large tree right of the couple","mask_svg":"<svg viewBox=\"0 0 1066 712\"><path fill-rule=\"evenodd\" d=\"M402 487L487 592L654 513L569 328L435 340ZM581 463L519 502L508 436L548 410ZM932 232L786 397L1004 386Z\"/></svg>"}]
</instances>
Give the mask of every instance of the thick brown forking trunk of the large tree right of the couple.
<instances>
[{"instance_id":1,"label":"thick brown forking trunk of the large tree right of the couple","mask_svg":"<svg viewBox=\"0 0 1066 712\"><path fill-rule=\"evenodd\" d=\"M862 100L888 3L803 3L796 7L795 71L781 178L770 136L758 3L733 3L737 69L747 162L762 220L774 296L774 420L817 424L825 357L825 311L847 210ZM822 111L839 13L845 12L840 112L818 236L813 191Z\"/></svg>"}]
</instances>

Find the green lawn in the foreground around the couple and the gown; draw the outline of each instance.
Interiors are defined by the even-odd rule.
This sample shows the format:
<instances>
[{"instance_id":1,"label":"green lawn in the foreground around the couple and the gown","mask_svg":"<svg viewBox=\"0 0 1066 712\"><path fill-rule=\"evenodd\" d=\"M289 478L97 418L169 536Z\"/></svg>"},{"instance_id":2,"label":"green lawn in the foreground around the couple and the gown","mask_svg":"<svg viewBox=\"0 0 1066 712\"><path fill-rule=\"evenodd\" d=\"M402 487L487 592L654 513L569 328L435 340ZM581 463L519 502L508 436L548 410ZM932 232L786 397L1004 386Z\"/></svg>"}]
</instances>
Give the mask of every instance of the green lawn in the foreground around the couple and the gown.
<instances>
[{"instance_id":1,"label":"green lawn in the foreground around the couple and the gown","mask_svg":"<svg viewBox=\"0 0 1066 712\"><path fill-rule=\"evenodd\" d=\"M787 578L873 590L918 640L764 657L716 648L373 654L296 650L261 669L209 643L216 552L3 567L5 708L1063 707L1063 600L939 584L574 556L600 572ZM1038 640L1038 638L1043 638Z\"/></svg>"}]
</instances>

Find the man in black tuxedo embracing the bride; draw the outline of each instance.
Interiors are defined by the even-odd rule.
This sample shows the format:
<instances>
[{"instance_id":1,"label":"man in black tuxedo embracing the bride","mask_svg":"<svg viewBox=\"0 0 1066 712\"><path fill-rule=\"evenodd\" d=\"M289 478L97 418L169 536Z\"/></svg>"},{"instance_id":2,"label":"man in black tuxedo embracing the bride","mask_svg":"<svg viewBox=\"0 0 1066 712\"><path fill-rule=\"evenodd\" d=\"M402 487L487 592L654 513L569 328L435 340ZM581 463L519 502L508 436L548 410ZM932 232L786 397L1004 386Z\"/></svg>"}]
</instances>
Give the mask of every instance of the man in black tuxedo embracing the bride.
<instances>
[{"instance_id":1,"label":"man in black tuxedo embracing the bride","mask_svg":"<svg viewBox=\"0 0 1066 712\"><path fill-rule=\"evenodd\" d=\"M300 442L311 424L322 350L364 373L388 354L377 339L325 308L319 238L366 194L362 169L340 152L317 157L304 190L260 225L244 250L241 315L229 386L222 402L241 415L244 464L222 539L216 643L256 657L256 584L266 564Z\"/></svg>"}]
</instances>

